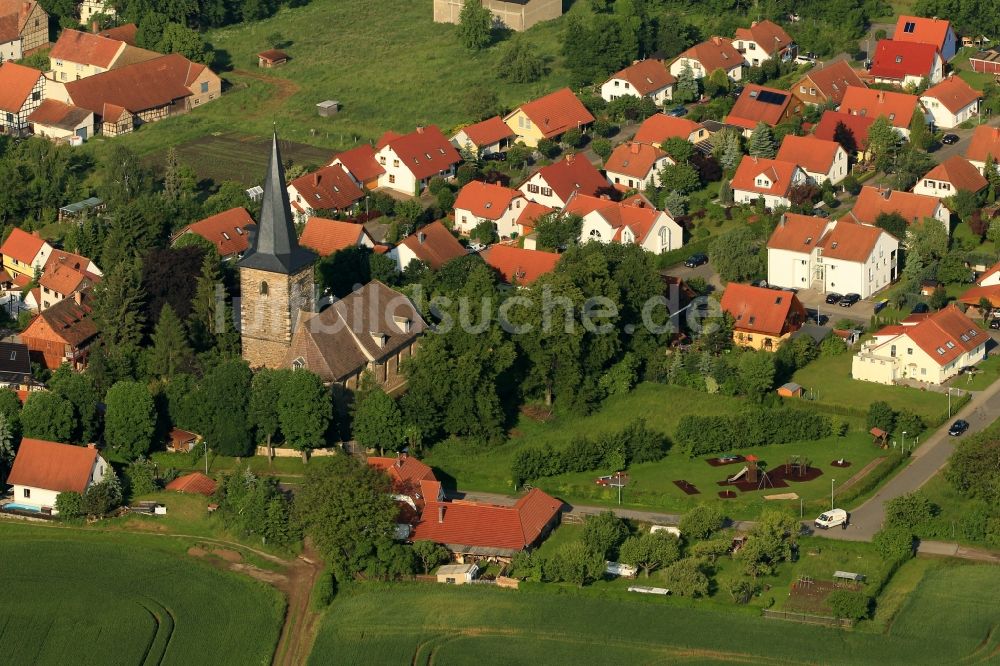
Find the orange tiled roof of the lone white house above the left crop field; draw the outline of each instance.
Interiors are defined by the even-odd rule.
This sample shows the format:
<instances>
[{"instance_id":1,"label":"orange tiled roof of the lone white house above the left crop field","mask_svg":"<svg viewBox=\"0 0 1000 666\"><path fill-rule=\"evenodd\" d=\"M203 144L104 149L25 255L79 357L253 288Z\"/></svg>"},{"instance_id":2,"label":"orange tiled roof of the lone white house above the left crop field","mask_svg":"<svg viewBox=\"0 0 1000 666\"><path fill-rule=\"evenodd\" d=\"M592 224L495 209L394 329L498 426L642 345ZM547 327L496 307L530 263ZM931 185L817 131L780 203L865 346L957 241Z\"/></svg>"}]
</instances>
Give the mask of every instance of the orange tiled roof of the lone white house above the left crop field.
<instances>
[{"instance_id":1,"label":"orange tiled roof of the lone white house above the left crop field","mask_svg":"<svg viewBox=\"0 0 1000 666\"><path fill-rule=\"evenodd\" d=\"M30 398L29 398L30 399ZM97 449L25 437L7 477L10 485L82 493L90 482Z\"/></svg>"}]
</instances>

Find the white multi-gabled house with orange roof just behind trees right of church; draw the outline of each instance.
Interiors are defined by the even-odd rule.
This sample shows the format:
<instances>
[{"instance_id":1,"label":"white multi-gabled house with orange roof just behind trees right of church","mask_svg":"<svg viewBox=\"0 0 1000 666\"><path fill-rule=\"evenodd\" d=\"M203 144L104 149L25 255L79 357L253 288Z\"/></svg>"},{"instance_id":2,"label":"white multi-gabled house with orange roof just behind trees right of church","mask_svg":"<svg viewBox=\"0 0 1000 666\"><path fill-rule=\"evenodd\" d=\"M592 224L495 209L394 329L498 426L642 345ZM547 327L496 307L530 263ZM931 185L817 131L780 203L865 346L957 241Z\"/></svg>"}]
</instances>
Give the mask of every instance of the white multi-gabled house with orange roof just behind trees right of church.
<instances>
[{"instance_id":1,"label":"white multi-gabled house with orange roof just behind trees right of church","mask_svg":"<svg viewBox=\"0 0 1000 666\"><path fill-rule=\"evenodd\" d=\"M583 218L580 242L639 245L654 254L676 250L684 244L684 230L666 212L641 197L611 201L576 194L563 211Z\"/></svg>"}]
</instances>

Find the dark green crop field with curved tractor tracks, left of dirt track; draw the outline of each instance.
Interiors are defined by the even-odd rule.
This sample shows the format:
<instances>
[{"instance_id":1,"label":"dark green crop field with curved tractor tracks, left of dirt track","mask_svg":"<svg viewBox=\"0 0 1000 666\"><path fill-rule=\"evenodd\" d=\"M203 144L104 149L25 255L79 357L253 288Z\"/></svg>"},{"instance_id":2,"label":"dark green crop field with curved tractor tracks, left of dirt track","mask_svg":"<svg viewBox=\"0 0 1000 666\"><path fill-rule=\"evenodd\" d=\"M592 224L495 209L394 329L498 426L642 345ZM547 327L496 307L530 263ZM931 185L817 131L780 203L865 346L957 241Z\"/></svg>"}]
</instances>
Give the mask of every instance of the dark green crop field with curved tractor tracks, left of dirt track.
<instances>
[{"instance_id":1,"label":"dark green crop field with curved tractor tracks, left of dirt track","mask_svg":"<svg viewBox=\"0 0 1000 666\"><path fill-rule=\"evenodd\" d=\"M284 612L263 583L173 538L0 524L8 664L269 664Z\"/></svg>"}]
</instances>

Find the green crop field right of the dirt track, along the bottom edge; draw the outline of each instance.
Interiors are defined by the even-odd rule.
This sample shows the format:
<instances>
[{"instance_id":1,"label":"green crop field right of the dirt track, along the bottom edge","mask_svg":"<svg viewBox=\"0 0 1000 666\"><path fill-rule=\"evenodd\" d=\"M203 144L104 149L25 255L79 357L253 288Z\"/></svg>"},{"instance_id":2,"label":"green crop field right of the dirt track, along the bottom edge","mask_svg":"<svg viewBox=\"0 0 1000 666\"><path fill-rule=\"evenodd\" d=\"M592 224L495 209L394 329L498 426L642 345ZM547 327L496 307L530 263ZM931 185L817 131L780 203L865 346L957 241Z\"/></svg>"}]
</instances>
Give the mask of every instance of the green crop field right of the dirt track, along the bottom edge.
<instances>
[{"instance_id":1,"label":"green crop field right of the dirt track, along the bottom edge","mask_svg":"<svg viewBox=\"0 0 1000 666\"><path fill-rule=\"evenodd\" d=\"M995 663L998 586L997 567L933 571L885 635L628 593L363 586L334 601L310 663Z\"/></svg>"}]
</instances>

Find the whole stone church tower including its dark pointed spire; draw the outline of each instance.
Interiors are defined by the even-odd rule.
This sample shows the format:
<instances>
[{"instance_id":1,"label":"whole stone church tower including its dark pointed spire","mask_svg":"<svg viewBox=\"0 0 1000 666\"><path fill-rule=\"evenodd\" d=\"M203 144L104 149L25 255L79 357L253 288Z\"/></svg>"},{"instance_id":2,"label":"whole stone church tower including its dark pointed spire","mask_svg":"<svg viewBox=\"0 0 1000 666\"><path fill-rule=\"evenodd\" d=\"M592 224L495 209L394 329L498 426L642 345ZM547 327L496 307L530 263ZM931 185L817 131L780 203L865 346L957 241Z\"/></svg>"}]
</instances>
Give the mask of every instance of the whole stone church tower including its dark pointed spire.
<instances>
[{"instance_id":1,"label":"whole stone church tower including its dark pointed spire","mask_svg":"<svg viewBox=\"0 0 1000 666\"><path fill-rule=\"evenodd\" d=\"M313 310L316 255L299 246L277 134L271 140L260 221L248 240L237 264L243 358L255 368L284 367L299 311Z\"/></svg>"}]
</instances>

